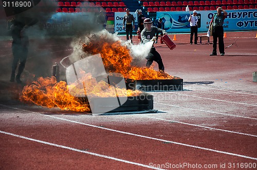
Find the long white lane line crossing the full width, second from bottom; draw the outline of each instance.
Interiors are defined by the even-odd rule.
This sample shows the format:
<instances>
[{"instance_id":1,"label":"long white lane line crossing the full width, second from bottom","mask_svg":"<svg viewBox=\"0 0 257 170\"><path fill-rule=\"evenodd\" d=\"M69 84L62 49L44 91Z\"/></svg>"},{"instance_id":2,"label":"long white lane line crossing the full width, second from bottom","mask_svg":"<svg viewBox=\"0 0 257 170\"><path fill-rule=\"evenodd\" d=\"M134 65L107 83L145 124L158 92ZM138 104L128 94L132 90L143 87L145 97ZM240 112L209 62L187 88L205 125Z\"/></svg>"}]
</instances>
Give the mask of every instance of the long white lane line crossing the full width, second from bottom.
<instances>
[{"instance_id":1,"label":"long white lane line crossing the full width, second from bottom","mask_svg":"<svg viewBox=\"0 0 257 170\"><path fill-rule=\"evenodd\" d=\"M32 112L32 111L28 111L28 110L24 110L24 109L9 107L8 105L4 105L4 104L0 104L0 105L3 105L4 107L16 109L16 110L21 110L21 111L30 112L30 113L33 113L33 114L41 114L41 113L39 113L39 112ZM41 114L41 115L44 115L44 114ZM60 119L60 120L64 120L64 121L68 121L68 122L72 122L72 123L87 125L87 126L90 126L90 127L93 127L93 128L98 128L98 129L103 129L103 130L107 130L107 131L117 132L117 133L121 133L121 134L126 134L126 135L131 135L131 136L137 136L137 137L146 138L146 139L152 139L152 140L157 140L157 141L161 141L161 142L168 142L168 143L178 144L178 145L182 145L182 146L188 146L188 147L198 148L198 149L200 149L200 150L211 151L211 152L216 152L216 153L221 153L221 154L226 154L226 155L232 155L232 156L237 156L237 157L242 157L242 158L257 160L257 158L249 157L249 156L245 156L245 155L239 155L239 154L234 154L234 153L230 153L230 152L218 151L218 150L213 150L213 149L211 149L211 148L200 147L200 146L195 146L195 145L190 145L190 144L185 144L185 143L180 143L180 142L174 142L174 141L169 141L169 140L164 140L164 139L158 139L158 138L153 138L153 137L149 137L149 136L143 136L143 135L133 134L133 133L130 133L130 132L123 132L123 131L113 130L113 129L104 128L104 127L97 126L97 125L93 125L93 124L81 123L81 122L78 122L78 121L69 120L69 119L64 119L64 118L59 118L59 117L55 117L55 116L51 116L51 115L44 115L44 116L51 117L51 118L55 118L55 119Z\"/></svg>"}]
</instances>

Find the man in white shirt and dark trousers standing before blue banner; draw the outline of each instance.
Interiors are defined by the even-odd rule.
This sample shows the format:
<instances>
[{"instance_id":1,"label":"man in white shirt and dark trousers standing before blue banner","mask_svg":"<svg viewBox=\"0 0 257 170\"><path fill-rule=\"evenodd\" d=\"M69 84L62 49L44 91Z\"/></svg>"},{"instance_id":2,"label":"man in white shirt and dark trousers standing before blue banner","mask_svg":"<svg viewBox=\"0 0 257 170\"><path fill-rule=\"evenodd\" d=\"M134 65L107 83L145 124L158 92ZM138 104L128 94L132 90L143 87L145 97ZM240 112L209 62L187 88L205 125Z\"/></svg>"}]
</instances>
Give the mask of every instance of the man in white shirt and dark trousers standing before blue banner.
<instances>
[{"instance_id":1,"label":"man in white shirt and dark trousers standing before blue banner","mask_svg":"<svg viewBox=\"0 0 257 170\"><path fill-rule=\"evenodd\" d=\"M190 15L188 19L188 21L190 22L190 44L193 44L193 35L194 35L194 44L197 44L198 18L196 15L197 15L197 11L194 10L193 15Z\"/></svg>"}]
</instances>

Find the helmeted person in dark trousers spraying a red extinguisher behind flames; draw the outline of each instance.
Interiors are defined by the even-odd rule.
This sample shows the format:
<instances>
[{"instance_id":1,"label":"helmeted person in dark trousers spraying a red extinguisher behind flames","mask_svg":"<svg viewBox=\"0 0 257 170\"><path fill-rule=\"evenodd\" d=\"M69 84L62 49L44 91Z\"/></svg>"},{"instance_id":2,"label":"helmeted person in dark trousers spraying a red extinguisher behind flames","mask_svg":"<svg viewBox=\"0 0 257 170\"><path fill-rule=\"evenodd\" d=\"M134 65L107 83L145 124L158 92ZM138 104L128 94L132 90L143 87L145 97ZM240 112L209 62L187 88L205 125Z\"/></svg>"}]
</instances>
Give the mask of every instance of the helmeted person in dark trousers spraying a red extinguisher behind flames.
<instances>
[{"instance_id":1,"label":"helmeted person in dark trousers spraying a red extinguisher behind flames","mask_svg":"<svg viewBox=\"0 0 257 170\"><path fill-rule=\"evenodd\" d=\"M155 41L156 40L156 33L161 32L163 35L167 35L168 33L160 28L153 26L153 21L150 18L144 19L144 29L141 32L141 43L144 44L148 41ZM164 65L161 59L160 54L156 51L154 46L152 46L148 56L145 57L147 59L146 61L146 67L150 67L153 63L153 61L156 61L158 63L159 71L164 72Z\"/></svg>"}]
</instances>

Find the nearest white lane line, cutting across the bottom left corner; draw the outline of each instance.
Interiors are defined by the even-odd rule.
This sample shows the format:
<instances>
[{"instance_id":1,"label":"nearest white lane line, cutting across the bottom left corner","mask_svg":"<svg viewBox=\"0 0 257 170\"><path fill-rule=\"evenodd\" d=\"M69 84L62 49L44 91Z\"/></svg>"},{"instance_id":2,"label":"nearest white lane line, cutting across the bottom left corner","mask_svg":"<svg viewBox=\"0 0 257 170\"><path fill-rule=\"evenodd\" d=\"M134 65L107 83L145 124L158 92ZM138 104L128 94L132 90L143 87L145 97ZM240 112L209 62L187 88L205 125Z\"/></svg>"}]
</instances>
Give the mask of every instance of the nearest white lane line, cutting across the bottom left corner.
<instances>
[{"instance_id":1,"label":"nearest white lane line, cutting across the bottom left corner","mask_svg":"<svg viewBox=\"0 0 257 170\"><path fill-rule=\"evenodd\" d=\"M81 150L78 150L78 149L73 148L73 147L68 147L68 146L63 146L63 145L59 145L59 144L49 143L49 142L45 142L45 141L42 141L42 140L32 139L32 138L28 138L28 137L25 137L25 136L16 135L16 134L4 132L4 131L0 131L0 133L6 134L6 135L11 135L11 136L22 138L22 139L26 139L26 140L30 140L30 141L33 141L33 142L38 142L38 143L43 143L43 144L47 144L47 145L51 145L51 146L61 147L61 148L65 148L66 150L81 152L81 153L88 154L88 155L98 156L98 157L102 157L102 158L106 158L106 159L112 159L112 160L115 160L115 161L129 163L129 164L138 165L138 166L142 166L142 167L147 167L147 168L151 168L151 169L160 169L160 168L150 166L150 165L144 165L144 164L141 164L141 163L131 162L131 161L127 161L127 160L123 160L123 159L119 159L119 158L114 158L114 157L111 157L111 156L96 154L96 153L93 153L93 152L81 151Z\"/></svg>"}]
</instances>

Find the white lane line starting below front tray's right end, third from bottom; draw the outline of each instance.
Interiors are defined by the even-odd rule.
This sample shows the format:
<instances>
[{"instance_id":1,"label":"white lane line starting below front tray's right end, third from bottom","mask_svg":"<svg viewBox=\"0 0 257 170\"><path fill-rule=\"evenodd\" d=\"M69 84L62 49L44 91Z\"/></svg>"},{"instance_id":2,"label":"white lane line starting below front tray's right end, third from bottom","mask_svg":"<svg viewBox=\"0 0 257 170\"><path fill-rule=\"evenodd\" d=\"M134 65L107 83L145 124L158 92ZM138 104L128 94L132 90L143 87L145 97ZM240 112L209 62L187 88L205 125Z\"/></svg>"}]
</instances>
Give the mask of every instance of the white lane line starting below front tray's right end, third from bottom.
<instances>
[{"instance_id":1,"label":"white lane line starting below front tray's right end, third from bottom","mask_svg":"<svg viewBox=\"0 0 257 170\"><path fill-rule=\"evenodd\" d=\"M211 128L211 127L208 127L208 126L201 126L201 125L197 125L197 124L185 123L185 122L180 122L180 121L175 121L175 120L161 119L161 118L152 117L152 116L143 116L143 117L149 117L149 118L158 119L158 120L164 120L164 121L169 121L169 122L186 124L186 125L196 126L196 127L199 127L199 128L205 128L205 129L210 129L210 130L223 131L223 132L229 132L229 133L234 133L234 134L257 137L257 135L251 135L251 134L245 134L245 133L241 133L241 132L234 132L234 131L228 131L228 130L223 130L223 129Z\"/></svg>"}]
</instances>

